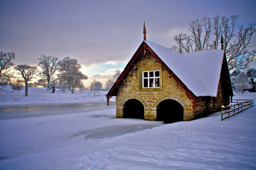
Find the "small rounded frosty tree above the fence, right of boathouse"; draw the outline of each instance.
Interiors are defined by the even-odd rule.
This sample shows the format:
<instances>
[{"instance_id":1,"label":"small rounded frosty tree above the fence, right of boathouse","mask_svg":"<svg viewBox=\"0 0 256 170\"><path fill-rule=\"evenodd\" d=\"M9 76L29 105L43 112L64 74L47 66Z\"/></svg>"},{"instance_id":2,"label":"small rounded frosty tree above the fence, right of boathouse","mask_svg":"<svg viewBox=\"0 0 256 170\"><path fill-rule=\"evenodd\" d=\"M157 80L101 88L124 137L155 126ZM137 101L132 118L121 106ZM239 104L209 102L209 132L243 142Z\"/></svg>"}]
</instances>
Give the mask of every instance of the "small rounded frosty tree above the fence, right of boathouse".
<instances>
[{"instance_id":1,"label":"small rounded frosty tree above the fence, right of boathouse","mask_svg":"<svg viewBox=\"0 0 256 170\"><path fill-rule=\"evenodd\" d=\"M239 77L234 81L234 87L236 89L242 90L242 93L244 93L244 89L250 89L251 84L248 80L248 76L245 74L245 72L241 72Z\"/></svg>"}]
</instances>

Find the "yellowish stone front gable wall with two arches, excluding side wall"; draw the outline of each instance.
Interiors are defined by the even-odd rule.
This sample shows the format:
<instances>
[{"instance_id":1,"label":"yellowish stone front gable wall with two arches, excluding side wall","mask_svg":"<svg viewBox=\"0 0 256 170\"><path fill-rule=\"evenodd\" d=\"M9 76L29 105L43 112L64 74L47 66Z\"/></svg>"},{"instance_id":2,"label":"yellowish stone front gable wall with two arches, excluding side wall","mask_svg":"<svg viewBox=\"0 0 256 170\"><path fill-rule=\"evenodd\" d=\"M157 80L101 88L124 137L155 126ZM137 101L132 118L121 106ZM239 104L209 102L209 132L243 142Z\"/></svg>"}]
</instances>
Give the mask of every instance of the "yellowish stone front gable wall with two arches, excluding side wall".
<instances>
[{"instance_id":1,"label":"yellowish stone front gable wall with two arches, excluding side wall","mask_svg":"<svg viewBox=\"0 0 256 170\"><path fill-rule=\"evenodd\" d=\"M142 88L142 72L150 70L160 71L159 88ZM148 55L142 57L122 86L119 87L116 98L117 117L123 117L123 104L127 100L137 99L144 106L144 119L156 120L157 105L163 100L172 99L183 106L183 120L193 119L193 100L189 100L185 90L181 86L177 86L177 82L169 77L168 71L162 70L162 65L156 62L154 57ZM170 109L172 108L170 107Z\"/></svg>"}]
</instances>

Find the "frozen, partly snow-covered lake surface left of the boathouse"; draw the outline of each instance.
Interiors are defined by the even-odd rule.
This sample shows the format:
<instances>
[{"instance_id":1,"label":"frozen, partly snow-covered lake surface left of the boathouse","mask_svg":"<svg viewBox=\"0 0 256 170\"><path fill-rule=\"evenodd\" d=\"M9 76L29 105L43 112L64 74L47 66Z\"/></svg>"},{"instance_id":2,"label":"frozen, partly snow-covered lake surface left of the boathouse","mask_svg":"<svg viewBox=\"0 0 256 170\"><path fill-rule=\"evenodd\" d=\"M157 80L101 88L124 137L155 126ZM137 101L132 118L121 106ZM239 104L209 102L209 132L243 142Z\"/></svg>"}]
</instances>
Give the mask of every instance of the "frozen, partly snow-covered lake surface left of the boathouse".
<instances>
[{"instance_id":1,"label":"frozen, partly snow-covered lake surface left of the boathouse","mask_svg":"<svg viewBox=\"0 0 256 170\"><path fill-rule=\"evenodd\" d=\"M0 106L0 161L164 125L115 113L105 102Z\"/></svg>"}]
</instances>

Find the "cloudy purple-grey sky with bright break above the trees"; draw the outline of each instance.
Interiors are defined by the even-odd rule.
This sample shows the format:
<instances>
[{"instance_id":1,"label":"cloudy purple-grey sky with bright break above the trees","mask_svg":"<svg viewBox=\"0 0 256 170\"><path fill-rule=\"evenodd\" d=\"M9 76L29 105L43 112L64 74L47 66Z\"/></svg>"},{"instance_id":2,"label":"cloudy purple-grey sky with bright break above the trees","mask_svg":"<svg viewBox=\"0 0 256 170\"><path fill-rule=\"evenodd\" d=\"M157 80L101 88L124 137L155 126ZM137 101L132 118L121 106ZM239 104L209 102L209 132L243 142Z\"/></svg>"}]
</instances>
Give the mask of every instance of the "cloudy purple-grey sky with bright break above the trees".
<instances>
[{"instance_id":1,"label":"cloudy purple-grey sky with bright break above the trees","mask_svg":"<svg viewBox=\"0 0 256 170\"><path fill-rule=\"evenodd\" d=\"M69 56L89 79L104 83L122 70L143 41L166 47L203 16L239 15L237 26L256 22L256 1L12 1L0 0L0 51L15 52L17 64ZM252 39L256 49L256 36ZM254 63L253 65L256 66Z\"/></svg>"}]
</instances>

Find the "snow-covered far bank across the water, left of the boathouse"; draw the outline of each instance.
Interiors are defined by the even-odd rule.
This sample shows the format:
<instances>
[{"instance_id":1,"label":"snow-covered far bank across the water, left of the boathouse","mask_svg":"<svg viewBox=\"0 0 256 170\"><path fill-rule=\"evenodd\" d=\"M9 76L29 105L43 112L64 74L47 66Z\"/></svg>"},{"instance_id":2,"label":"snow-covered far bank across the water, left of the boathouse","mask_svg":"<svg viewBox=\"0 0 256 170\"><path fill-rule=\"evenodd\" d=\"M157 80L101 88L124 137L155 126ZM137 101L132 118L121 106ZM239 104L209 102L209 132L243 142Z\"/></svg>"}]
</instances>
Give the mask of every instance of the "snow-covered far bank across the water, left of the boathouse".
<instances>
[{"instance_id":1,"label":"snow-covered far bank across the water, left of the boathouse","mask_svg":"<svg viewBox=\"0 0 256 170\"><path fill-rule=\"evenodd\" d=\"M82 93L75 90L60 91L56 89L55 93L47 88L29 87L28 96L25 96L25 89L20 92L11 92L10 86L4 87L4 91L0 94L0 105L28 104L28 103L76 103L76 102L106 102L106 93L108 91L99 91L94 95L94 91L84 90ZM115 97L110 99L115 102Z\"/></svg>"}]
</instances>

